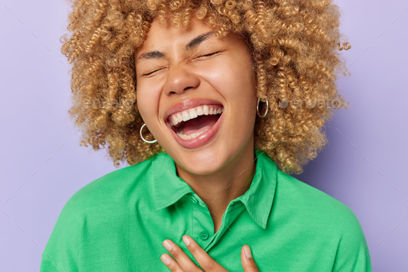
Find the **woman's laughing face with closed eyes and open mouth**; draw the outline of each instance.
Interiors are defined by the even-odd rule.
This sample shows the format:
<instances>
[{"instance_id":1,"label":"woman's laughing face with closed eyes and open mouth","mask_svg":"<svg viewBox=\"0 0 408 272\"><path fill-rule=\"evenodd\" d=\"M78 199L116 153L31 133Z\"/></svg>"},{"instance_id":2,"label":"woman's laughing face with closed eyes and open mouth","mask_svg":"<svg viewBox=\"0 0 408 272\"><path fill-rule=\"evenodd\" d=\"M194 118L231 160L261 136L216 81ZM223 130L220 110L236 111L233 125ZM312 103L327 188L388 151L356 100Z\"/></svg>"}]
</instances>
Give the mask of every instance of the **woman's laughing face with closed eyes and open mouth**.
<instances>
[{"instance_id":1,"label":"woman's laughing face with closed eyes and open mouth","mask_svg":"<svg viewBox=\"0 0 408 272\"><path fill-rule=\"evenodd\" d=\"M151 23L135 55L137 104L174 161L206 175L245 147L253 153L256 77L244 39L216 38L206 23L191 20L178 29Z\"/></svg>"}]
</instances>

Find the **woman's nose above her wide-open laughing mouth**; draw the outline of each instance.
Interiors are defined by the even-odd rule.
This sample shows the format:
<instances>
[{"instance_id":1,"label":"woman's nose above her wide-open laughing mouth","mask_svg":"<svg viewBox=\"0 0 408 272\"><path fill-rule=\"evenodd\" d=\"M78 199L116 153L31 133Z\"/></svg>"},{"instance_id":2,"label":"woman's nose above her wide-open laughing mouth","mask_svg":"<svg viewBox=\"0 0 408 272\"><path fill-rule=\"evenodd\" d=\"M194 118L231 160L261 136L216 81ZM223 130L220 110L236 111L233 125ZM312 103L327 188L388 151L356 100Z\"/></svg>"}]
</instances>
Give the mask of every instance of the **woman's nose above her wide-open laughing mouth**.
<instances>
[{"instance_id":1,"label":"woman's nose above her wide-open laughing mouth","mask_svg":"<svg viewBox=\"0 0 408 272\"><path fill-rule=\"evenodd\" d=\"M172 67L167 72L167 81L164 91L167 95L183 94L190 88L197 88L200 85L200 79L188 67L178 65Z\"/></svg>"}]
</instances>

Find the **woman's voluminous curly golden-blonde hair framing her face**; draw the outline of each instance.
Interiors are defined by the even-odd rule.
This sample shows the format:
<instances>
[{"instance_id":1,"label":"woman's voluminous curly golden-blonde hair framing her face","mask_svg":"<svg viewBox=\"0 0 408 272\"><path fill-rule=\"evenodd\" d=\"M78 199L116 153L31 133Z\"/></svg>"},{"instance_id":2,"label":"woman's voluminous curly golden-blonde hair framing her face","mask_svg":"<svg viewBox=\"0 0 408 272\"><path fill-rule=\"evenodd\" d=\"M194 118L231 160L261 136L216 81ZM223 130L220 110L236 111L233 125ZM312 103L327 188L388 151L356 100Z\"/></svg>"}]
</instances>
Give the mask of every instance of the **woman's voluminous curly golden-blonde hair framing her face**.
<instances>
[{"instance_id":1,"label":"woman's voluminous curly golden-blonde hair framing her face","mask_svg":"<svg viewBox=\"0 0 408 272\"><path fill-rule=\"evenodd\" d=\"M269 104L266 117L256 119L254 147L284 173L303 172L327 143L322 126L333 116L332 108L348 108L335 79L349 75L338 51L351 46L340 41L340 11L331 1L71 1L67 28L72 35L61 37L61 51L73 63L73 101L88 102L69 113L82 131L81 144L94 150L109 144L115 166L124 159L133 165L166 153L158 142L145 144L138 135L143 121L136 104L134 55L154 19L178 28L196 16L217 29L218 37L235 33L246 39L257 95ZM116 104L100 107L95 99ZM300 107L288 106L293 101L300 101ZM312 101L332 101L332 107L311 106ZM153 139L150 134L145 138Z\"/></svg>"}]
</instances>

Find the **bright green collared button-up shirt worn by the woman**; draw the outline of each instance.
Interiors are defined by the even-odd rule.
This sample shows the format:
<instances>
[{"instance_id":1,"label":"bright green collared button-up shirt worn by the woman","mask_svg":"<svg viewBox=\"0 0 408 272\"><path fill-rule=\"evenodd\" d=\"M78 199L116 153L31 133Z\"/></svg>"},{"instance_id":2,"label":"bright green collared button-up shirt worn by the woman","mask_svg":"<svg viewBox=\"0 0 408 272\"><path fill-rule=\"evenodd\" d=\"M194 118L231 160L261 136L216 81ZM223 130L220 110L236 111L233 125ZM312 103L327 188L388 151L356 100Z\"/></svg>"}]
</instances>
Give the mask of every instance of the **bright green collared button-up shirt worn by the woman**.
<instances>
[{"instance_id":1,"label":"bright green collared button-up shirt worn by the woman","mask_svg":"<svg viewBox=\"0 0 408 272\"><path fill-rule=\"evenodd\" d=\"M242 271L250 245L263 272L371 271L369 249L353 211L284 174L255 150L248 191L232 200L214 234L207 205L160 153L82 187L62 209L42 254L40 272L169 271L162 246L189 235L228 271ZM215 197L214 197L215 198Z\"/></svg>"}]
</instances>

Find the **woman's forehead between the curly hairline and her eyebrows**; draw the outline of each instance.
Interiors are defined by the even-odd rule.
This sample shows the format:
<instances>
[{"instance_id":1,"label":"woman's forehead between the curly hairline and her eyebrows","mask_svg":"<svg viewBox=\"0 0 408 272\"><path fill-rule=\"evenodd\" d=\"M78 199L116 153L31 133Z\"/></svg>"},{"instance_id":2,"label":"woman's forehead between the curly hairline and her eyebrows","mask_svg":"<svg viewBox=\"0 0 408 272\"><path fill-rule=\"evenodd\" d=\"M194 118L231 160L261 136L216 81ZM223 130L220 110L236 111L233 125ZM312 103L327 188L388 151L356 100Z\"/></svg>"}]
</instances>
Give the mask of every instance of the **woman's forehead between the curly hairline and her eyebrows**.
<instances>
[{"instance_id":1,"label":"woman's forehead between the curly hairline and her eyebrows","mask_svg":"<svg viewBox=\"0 0 408 272\"><path fill-rule=\"evenodd\" d=\"M178 43L185 45L198 35L216 30L208 26L203 19L197 19L193 16L189 20L189 26L184 26L183 23L181 23L179 28L174 28L170 25L162 26L158 23L158 20L155 19L151 23L145 41L143 41L142 46L136 51L136 58L142 54L142 52L159 50L160 47L163 49L163 47L171 45L176 46Z\"/></svg>"}]
</instances>

